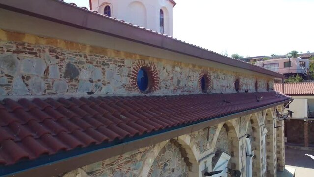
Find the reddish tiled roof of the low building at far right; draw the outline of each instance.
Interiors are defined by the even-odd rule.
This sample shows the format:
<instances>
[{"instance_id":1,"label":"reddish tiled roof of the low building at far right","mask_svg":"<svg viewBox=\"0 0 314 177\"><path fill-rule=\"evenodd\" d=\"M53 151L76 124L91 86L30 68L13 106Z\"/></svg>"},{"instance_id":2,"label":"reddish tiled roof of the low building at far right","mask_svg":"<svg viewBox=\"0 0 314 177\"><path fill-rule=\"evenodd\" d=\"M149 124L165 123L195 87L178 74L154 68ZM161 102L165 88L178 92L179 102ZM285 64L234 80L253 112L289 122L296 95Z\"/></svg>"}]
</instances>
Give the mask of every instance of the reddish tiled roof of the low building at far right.
<instances>
[{"instance_id":1,"label":"reddish tiled roof of the low building at far right","mask_svg":"<svg viewBox=\"0 0 314 177\"><path fill-rule=\"evenodd\" d=\"M314 83L285 83L284 89L287 95L309 95L314 94ZM281 93L282 84L274 84L274 90Z\"/></svg>"}]
</instances>

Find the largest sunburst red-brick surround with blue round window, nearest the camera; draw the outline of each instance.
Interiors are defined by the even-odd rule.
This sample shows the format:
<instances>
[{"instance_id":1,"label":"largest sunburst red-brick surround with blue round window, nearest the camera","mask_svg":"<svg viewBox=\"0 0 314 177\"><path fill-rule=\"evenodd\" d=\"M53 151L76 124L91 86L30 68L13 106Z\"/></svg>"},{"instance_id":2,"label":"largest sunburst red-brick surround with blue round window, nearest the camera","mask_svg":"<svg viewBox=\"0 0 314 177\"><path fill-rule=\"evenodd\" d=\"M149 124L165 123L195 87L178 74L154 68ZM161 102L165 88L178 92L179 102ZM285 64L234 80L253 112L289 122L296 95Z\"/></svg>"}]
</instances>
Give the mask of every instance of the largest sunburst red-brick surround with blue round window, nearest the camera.
<instances>
[{"instance_id":1,"label":"largest sunburst red-brick surround with blue round window, nearest the camera","mask_svg":"<svg viewBox=\"0 0 314 177\"><path fill-rule=\"evenodd\" d=\"M138 80L138 78L141 78L141 80ZM130 79L132 89L135 91L147 94L158 90L159 74L153 62L137 61L132 68Z\"/></svg>"}]
</instances>

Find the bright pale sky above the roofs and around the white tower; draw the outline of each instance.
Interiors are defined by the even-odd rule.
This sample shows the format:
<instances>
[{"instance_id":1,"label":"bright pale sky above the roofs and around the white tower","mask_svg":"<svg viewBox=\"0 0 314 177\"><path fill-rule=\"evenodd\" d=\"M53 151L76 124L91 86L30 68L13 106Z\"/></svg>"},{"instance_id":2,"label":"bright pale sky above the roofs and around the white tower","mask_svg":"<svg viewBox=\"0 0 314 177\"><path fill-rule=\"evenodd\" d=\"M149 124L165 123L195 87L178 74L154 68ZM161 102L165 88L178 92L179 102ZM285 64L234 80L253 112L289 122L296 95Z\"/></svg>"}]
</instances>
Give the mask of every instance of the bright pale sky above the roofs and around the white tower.
<instances>
[{"instance_id":1,"label":"bright pale sky above the roofs and around the white tower","mask_svg":"<svg viewBox=\"0 0 314 177\"><path fill-rule=\"evenodd\" d=\"M173 36L180 40L229 56L314 52L314 0L175 1Z\"/></svg>"}]
</instances>

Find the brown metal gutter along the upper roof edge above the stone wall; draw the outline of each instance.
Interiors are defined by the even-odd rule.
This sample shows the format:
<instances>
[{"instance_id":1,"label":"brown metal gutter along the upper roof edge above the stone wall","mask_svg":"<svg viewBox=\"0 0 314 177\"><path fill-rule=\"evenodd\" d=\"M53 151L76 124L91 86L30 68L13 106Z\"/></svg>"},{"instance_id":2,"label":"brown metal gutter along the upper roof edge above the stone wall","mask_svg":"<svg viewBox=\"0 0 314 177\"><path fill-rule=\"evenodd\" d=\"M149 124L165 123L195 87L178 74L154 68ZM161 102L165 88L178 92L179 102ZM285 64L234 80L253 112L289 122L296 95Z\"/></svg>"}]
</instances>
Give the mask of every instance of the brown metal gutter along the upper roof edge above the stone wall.
<instances>
[{"instance_id":1,"label":"brown metal gutter along the upper roof edge above the stone wall","mask_svg":"<svg viewBox=\"0 0 314 177\"><path fill-rule=\"evenodd\" d=\"M0 8L200 59L284 78L282 74L258 67L251 63L232 59L60 0L0 0Z\"/></svg>"}]
</instances>

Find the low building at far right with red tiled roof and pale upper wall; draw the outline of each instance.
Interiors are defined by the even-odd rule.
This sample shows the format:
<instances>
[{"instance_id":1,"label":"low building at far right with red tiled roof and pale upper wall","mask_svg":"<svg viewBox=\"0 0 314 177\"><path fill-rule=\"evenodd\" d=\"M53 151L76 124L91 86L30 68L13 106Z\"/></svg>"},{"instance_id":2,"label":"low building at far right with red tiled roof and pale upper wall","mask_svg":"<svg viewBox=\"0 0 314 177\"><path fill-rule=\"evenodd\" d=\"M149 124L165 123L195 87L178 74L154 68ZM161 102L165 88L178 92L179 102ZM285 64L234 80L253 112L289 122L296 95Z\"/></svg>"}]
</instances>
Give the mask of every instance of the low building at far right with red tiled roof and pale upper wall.
<instances>
[{"instance_id":1,"label":"low building at far right with red tiled roof and pale upper wall","mask_svg":"<svg viewBox=\"0 0 314 177\"><path fill-rule=\"evenodd\" d=\"M314 83L285 83L284 93L294 100L286 108L293 111L292 120L285 121L288 145L314 147ZM282 92L282 84L274 84Z\"/></svg>"}]
</instances>

